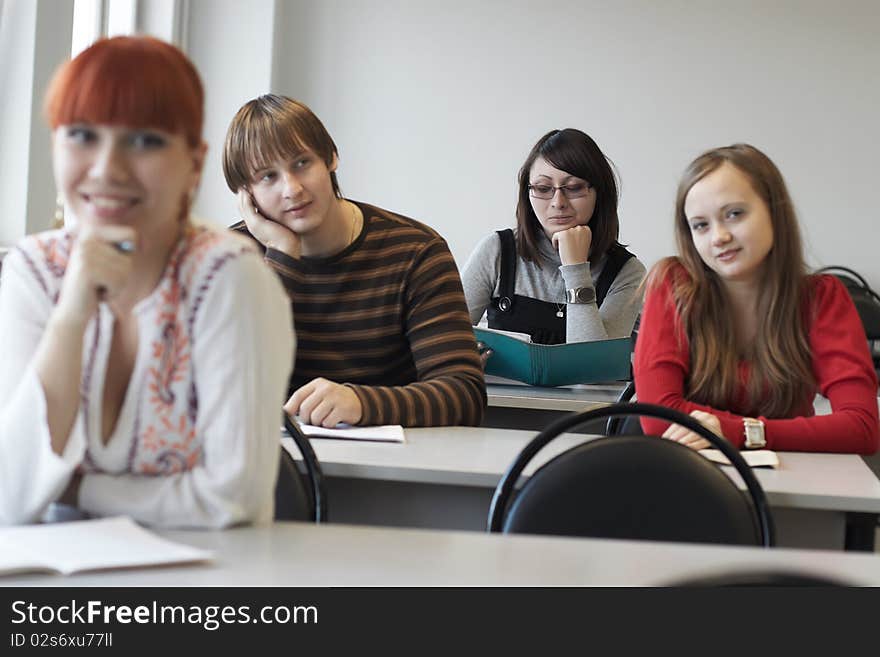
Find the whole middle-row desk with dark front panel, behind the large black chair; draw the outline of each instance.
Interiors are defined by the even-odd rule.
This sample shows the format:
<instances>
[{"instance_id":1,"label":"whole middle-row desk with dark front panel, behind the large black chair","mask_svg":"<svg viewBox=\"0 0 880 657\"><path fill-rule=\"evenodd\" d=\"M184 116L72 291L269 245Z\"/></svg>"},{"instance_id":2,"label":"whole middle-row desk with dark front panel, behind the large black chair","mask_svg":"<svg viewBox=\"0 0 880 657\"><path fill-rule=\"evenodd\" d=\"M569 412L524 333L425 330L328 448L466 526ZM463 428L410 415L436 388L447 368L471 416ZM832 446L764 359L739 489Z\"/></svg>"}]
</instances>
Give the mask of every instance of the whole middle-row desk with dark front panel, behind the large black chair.
<instances>
[{"instance_id":1,"label":"whole middle-row desk with dark front panel, behind the large black chair","mask_svg":"<svg viewBox=\"0 0 880 657\"><path fill-rule=\"evenodd\" d=\"M485 531L495 486L534 435L445 427L407 429L404 445L328 439L312 445L326 477L331 522ZM561 436L525 474L582 440ZM780 546L873 551L880 480L859 456L781 452L779 458L779 469L755 474ZM744 487L731 468L724 470Z\"/></svg>"}]
</instances>

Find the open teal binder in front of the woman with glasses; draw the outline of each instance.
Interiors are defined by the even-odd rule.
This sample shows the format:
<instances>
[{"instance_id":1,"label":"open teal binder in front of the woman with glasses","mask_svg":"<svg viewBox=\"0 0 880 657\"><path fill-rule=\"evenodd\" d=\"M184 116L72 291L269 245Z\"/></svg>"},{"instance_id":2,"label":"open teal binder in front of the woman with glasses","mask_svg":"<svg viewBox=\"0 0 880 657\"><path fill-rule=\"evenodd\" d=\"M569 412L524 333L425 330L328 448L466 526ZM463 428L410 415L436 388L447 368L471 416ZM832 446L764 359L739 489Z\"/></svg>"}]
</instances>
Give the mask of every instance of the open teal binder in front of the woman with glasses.
<instances>
[{"instance_id":1,"label":"open teal binder in front of the woman with glasses","mask_svg":"<svg viewBox=\"0 0 880 657\"><path fill-rule=\"evenodd\" d=\"M486 361L486 374L533 386L603 383L630 376L630 338L550 345L525 342L491 329L474 327L474 333L494 352Z\"/></svg>"}]
</instances>

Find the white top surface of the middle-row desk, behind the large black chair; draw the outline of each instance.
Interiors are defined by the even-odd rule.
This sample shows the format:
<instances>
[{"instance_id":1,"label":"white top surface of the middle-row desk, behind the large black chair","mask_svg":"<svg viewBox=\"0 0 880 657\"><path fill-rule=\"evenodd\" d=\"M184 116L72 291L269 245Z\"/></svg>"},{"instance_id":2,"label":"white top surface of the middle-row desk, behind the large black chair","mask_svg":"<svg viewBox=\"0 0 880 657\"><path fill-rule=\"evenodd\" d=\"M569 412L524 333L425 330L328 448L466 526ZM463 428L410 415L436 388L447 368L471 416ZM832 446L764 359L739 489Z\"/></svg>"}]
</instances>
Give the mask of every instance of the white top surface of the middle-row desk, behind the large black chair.
<instances>
[{"instance_id":1,"label":"white top surface of the middle-row desk, behind the large black chair","mask_svg":"<svg viewBox=\"0 0 880 657\"><path fill-rule=\"evenodd\" d=\"M490 427L406 429L407 443L312 439L330 477L494 488L533 431ZM542 450L534 467L583 441L566 435ZM285 438L285 444L292 441ZM295 450L294 450L295 453ZM779 452L776 470L756 468L772 506L880 513L880 480L854 454ZM732 468L725 467L742 487Z\"/></svg>"}]
</instances>

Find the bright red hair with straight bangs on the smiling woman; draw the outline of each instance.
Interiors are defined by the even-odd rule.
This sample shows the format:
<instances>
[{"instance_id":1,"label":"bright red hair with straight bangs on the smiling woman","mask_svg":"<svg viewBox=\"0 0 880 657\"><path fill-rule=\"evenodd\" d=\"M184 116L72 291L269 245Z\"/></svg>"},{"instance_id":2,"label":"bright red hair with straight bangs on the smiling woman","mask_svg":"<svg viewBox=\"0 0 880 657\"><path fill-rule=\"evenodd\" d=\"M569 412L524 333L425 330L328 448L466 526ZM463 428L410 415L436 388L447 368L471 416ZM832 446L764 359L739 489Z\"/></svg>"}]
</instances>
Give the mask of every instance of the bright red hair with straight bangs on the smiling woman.
<instances>
[{"instance_id":1,"label":"bright red hair with straight bangs on the smiling woman","mask_svg":"<svg viewBox=\"0 0 880 657\"><path fill-rule=\"evenodd\" d=\"M65 62L46 91L54 130L72 123L121 124L202 141L205 93L192 62L175 46L147 36L100 39Z\"/></svg>"}]
</instances>

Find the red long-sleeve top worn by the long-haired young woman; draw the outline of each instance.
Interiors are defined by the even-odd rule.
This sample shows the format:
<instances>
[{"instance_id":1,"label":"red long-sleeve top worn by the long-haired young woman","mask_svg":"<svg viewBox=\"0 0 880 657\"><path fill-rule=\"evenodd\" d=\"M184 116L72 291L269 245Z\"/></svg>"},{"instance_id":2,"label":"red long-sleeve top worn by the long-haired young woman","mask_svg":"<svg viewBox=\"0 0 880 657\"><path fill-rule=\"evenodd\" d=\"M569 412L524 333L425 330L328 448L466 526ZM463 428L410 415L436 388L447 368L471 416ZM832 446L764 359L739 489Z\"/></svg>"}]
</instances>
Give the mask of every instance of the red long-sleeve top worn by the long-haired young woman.
<instances>
[{"instance_id":1,"label":"red long-sleeve top worn by the long-haired young woman","mask_svg":"<svg viewBox=\"0 0 880 657\"><path fill-rule=\"evenodd\" d=\"M725 410L695 404L685 398L690 350L672 292L673 277L687 275L672 269L665 280L648 290L636 343L633 370L641 402L659 404L683 413L702 410L717 416L724 437L737 447L745 442L743 415L748 366L741 363L740 386ZM816 390L831 402L829 415L815 415L814 393L791 418L764 422L767 449L801 452L871 454L880 444L877 375L861 320L843 284L834 276L813 276L809 303L810 351ZM739 402L739 404L738 404ZM642 419L645 433L662 435L669 423Z\"/></svg>"}]
</instances>

